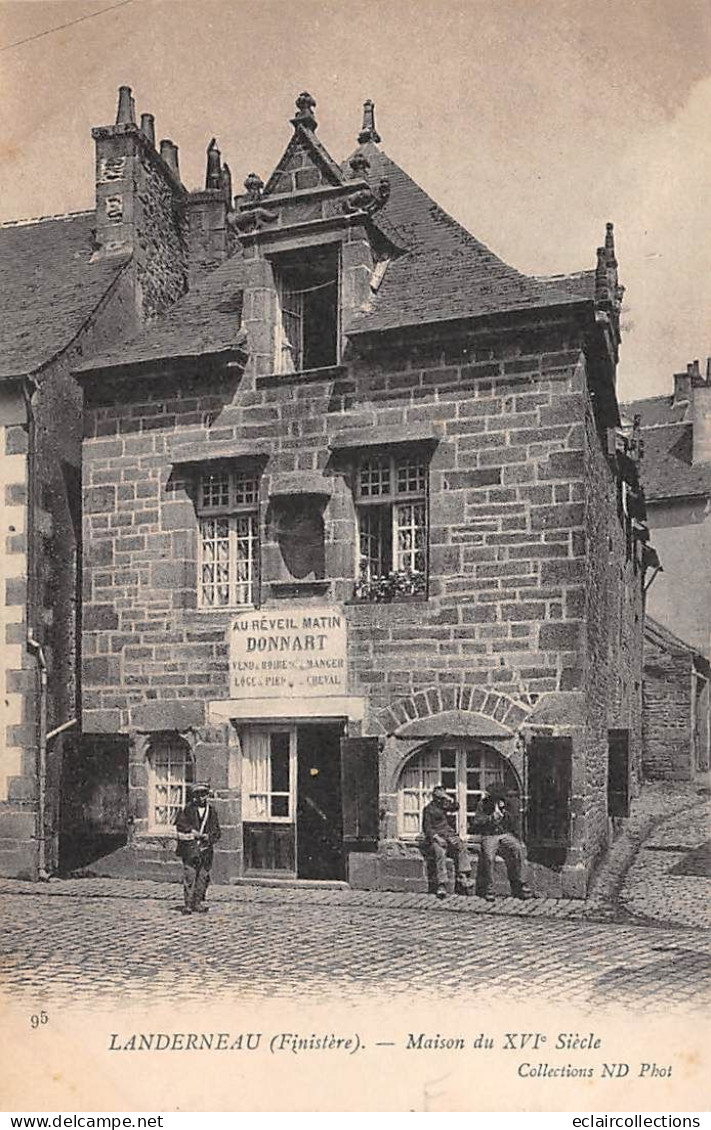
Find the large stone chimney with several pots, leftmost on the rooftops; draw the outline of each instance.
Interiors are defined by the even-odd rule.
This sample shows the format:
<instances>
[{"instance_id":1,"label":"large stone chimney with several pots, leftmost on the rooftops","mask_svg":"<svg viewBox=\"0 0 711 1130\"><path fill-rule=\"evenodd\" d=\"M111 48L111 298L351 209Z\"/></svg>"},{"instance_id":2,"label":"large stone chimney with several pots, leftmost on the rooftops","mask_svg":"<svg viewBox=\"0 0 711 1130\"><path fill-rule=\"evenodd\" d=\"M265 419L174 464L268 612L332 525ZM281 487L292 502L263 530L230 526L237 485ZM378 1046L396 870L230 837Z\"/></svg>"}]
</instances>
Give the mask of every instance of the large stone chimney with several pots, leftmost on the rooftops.
<instances>
[{"instance_id":1,"label":"large stone chimney with several pots, leftmost on the rooftops","mask_svg":"<svg viewBox=\"0 0 711 1130\"><path fill-rule=\"evenodd\" d=\"M155 148L153 114L136 123L131 88L119 89L114 125L92 130L96 144L95 259L131 257L137 314L171 306L188 284L185 201L177 146ZM164 149L165 147L165 149Z\"/></svg>"}]
</instances>

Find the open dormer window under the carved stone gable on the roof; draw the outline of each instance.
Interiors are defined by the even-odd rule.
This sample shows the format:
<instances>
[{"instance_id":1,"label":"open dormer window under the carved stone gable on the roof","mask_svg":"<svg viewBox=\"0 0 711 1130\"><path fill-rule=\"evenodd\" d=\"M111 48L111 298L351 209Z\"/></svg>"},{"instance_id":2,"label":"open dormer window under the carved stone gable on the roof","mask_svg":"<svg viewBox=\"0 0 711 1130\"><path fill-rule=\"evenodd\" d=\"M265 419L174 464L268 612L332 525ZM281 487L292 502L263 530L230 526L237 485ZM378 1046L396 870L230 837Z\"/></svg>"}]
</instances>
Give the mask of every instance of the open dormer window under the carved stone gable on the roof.
<instances>
[{"instance_id":1,"label":"open dormer window under the carved stone gable on the roof","mask_svg":"<svg viewBox=\"0 0 711 1130\"><path fill-rule=\"evenodd\" d=\"M337 245L303 247L272 260L277 290L275 370L298 373L339 362Z\"/></svg>"}]
</instances>

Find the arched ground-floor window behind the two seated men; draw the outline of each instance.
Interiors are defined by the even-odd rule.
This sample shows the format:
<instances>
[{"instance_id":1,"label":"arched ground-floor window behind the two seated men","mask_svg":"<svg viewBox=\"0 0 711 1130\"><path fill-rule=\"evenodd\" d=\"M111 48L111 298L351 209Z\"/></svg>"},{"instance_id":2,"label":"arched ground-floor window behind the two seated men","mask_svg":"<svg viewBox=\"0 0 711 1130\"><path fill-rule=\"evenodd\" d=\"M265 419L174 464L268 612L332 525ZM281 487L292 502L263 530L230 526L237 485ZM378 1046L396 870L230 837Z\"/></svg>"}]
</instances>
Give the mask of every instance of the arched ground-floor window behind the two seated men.
<instances>
[{"instance_id":1,"label":"arched ground-floor window behind the two seated men","mask_svg":"<svg viewBox=\"0 0 711 1130\"><path fill-rule=\"evenodd\" d=\"M520 794L515 773L495 749L480 741L445 738L416 754L400 774L399 829L404 838L419 836L422 810L432 800L435 784L443 784L459 801L454 819L460 836L472 834L471 818L484 792L493 784Z\"/></svg>"}]
</instances>

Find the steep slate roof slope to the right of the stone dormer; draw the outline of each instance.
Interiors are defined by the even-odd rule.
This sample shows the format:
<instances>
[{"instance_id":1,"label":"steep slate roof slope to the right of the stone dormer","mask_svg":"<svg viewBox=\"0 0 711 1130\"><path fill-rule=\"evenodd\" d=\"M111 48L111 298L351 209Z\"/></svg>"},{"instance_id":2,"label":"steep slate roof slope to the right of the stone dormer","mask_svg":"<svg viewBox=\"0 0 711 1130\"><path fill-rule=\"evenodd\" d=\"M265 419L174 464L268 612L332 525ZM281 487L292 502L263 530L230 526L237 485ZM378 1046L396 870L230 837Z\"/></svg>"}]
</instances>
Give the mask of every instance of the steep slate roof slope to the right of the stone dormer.
<instances>
[{"instance_id":1,"label":"steep slate roof slope to the right of the stone dormer","mask_svg":"<svg viewBox=\"0 0 711 1130\"><path fill-rule=\"evenodd\" d=\"M553 279L521 275L448 216L374 142L366 142L357 153L370 162L372 185L381 177L389 180L390 198L374 221L384 221L407 252L390 263L372 310L354 320L349 333L565 305L592 297L589 272ZM349 167L349 160L344 163L344 169Z\"/></svg>"}]
</instances>

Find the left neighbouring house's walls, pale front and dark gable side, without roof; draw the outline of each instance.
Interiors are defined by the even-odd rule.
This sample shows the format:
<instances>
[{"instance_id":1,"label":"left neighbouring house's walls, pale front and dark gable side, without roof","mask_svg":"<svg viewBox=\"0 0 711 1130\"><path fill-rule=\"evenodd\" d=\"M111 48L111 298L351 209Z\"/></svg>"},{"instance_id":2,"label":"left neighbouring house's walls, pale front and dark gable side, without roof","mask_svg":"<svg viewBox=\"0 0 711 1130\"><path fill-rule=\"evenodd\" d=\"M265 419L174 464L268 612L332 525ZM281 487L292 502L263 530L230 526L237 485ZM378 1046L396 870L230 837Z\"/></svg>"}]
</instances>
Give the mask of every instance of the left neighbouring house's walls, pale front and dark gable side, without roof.
<instances>
[{"instance_id":1,"label":"left neighbouring house's walls, pale front and dark gable side, without roof","mask_svg":"<svg viewBox=\"0 0 711 1130\"><path fill-rule=\"evenodd\" d=\"M40 711L40 667L27 636L42 646L47 667L46 728L79 719L78 555L80 536L81 393L70 375L78 360L109 345L135 324L132 286L121 273L69 349L37 377L32 423L24 401L23 423L6 429L3 476L23 475L5 487L7 536L12 568L6 586L6 647L12 692L6 733L8 760L0 798L0 873L33 875L36 867L35 806ZM19 394L19 393L18 393ZM19 461L19 462L18 462ZM29 530L29 538L27 531ZM47 861L57 860L62 738L47 749ZM19 825L24 832L19 833ZM10 843L12 846L10 847Z\"/></svg>"}]
</instances>

